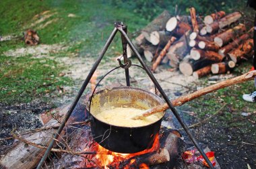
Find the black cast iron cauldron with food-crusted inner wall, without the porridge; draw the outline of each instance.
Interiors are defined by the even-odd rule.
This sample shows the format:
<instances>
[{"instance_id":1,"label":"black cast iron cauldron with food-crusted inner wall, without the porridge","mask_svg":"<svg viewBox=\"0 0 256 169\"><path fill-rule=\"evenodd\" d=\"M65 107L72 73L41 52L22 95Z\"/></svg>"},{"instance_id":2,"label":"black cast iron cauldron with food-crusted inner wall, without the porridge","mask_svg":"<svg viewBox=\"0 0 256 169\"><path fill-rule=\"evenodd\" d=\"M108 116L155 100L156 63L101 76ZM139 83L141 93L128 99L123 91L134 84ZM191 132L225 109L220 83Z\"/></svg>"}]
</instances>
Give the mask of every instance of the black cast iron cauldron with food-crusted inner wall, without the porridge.
<instances>
[{"instance_id":1,"label":"black cast iron cauldron with food-crusted inner wall, without the porridge","mask_svg":"<svg viewBox=\"0 0 256 169\"><path fill-rule=\"evenodd\" d=\"M151 148L160 125L164 112L159 114L158 121L141 127L121 127L100 121L94 115L100 112L104 104L121 107L141 107L149 109L162 104L157 95L133 87L115 87L96 92L90 107L91 129L94 140L100 146L119 153L135 153ZM106 105L105 105L106 106Z\"/></svg>"}]
</instances>

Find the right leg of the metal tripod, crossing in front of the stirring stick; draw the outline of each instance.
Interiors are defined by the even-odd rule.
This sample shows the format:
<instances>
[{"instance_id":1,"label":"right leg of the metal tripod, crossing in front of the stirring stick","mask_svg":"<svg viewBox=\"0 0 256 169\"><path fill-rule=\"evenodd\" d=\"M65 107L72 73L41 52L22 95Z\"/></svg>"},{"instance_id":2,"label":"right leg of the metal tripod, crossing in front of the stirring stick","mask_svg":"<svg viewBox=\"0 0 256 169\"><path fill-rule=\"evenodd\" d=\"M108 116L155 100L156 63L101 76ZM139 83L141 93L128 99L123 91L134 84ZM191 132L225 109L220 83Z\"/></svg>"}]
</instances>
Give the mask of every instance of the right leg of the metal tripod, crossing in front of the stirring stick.
<instances>
[{"instance_id":1,"label":"right leg of the metal tripod, crossing in front of the stirring stick","mask_svg":"<svg viewBox=\"0 0 256 169\"><path fill-rule=\"evenodd\" d=\"M158 83L158 81L156 80L156 78L154 77L154 75L152 74L152 72L150 71L150 68L148 68L148 66L146 65L146 63L143 61L143 59L141 58L141 56L139 55L139 52L137 52L135 46L133 45L133 43L131 42L131 40L129 39L129 37L127 36L127 34L119 29L119 32L121 32L121 34L125 37L125 39L127 40L129 46L131 47L131 50L133 50L133 52L135 53L135 55L137 56L137 59L139 60L140 64L143 66L143 68L146 70L148 76L150 76L150 79L152 80L152 82L154 82L156 88L158 89L158 91L161 93L162 97L164 97L164 101L166 101L166 103L168 104L168 106L170 107L170 110L172 111L172 113L175 115L175 117L178 119L179 123L181 124L181 126L183 127L183 129L186 131L187 135L189 136L189 138L191 139L191 141L193 142L193 144L195 145L195 147L197 148L197 150L200 152L201 156L203 156L203 159L205 160L205 162L207 162L207 164L210 166L210 168L214 168L214 166L212 166L212 162L210 162L209 158L207 158L207 156L205 155L205 153L203 152L203 150L201 150L201 148L199 147L199 145L197 144L197 141L195 140L195 138L193 137L193 135L190 133L189 131L189 127L187 127L187 125L183 122L183 120L181 119L181 116L179 115L179 113L177 112L177 110L172 106L172 103L170 103L170 100L168 99L167 95L164 93L162 87L160 87L160 84Z\"/></svg>"}]
</instances>

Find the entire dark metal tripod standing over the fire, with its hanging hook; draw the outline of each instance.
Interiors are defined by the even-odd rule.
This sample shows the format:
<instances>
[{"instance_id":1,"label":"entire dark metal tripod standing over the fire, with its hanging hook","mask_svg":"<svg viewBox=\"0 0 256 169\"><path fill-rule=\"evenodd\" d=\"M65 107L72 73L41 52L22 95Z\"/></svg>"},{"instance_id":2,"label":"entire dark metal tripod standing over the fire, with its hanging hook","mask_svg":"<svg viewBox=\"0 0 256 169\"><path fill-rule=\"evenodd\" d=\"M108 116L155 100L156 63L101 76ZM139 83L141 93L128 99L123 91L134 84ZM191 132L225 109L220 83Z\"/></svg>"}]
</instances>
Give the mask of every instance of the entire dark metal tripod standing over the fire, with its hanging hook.
<instances>
[{"instance_id":1,"label":"entire dark metal tripod standing over the fire, with its hanging hook","mask_svg":"<svg viewBox=\"0 0 256 169\"><path fill-rule=\"evenodd\" d=\"M117 34L118 31L121 33L121 39L122 39L123 58L124 58L124 62L125 62L125 65L122 66L122 67L125 68L125 77L126 77L127 86L128 87L130 86L129 67L131 66L131 60L129 60L127 58L127 44L129 44L131 50L134 52L134 54L137 57L137 59L139 60L140 64L146 70L148 76L150 76L150 79L152 80L152 82L154 82L156 88L161 93L162 97L164 98L164 101L166 101L166 103L170 107L170 110L172 111L172 113L178 119L179 123L181 123L181 126L186 131L187 135L189 136L189 138L191 139L191 141L193 142L193 144L195 145L197 150L200 152L201 156L203 156L203 159L207 162L207 164L208 164L208 166L210 166L210 168L214 168L214 166L212 166L212 163L207 158L207 156L205 155L203 150L197 144L197 141L195 140L193 135L191 135L191 133L189 131L189 127L187 127L187 125L181 119L181 117L180 117L179 113L177 112L177 110L172 106L172 103L170 103L170 100L168 99L167 95L164 93L162 87L160 87L160 84L158 83L158 81L156 80L156 78L154 77L152 72L150 71L150 68L148 68L146 63L141 58L139 52L137 52L135 46L133 45L133 43L131 42L131 40L127 36L127 26L124 25L123 22L116 22L115 23L115 28L114 28L113 32L110 34L110 37L106 41L106 44L104 45L104 48L102 49L102 52L100 52L100 55L98 56L96 62L92 66L92 69L90 70L86 80L84 81L84 84L82 85L81 89L79 89L79 92L77 93L77 96L75 97L73 103L71 104L71 107L69 108L69 111L67 111L67 114L65 115L65 119L62 121L61 125L59 126L59 129L57 130L57 133L55 133L53 139L51 140L51 142L50 142L50 144L48 146L48 148L46 149L46 152L44 152L44 156L42 156L42 158L41 158L41 160L40 160L40 162L39 162L39 164L37 166L37 169L40 169L42 167L42 165L44 164L44 161L46 160L46 158L48 158L48 156L49 156L49 154L51 152L51 149L53 148L53 145L55 144L55 140L57 139L57 137L60 135L61 131L65 127L65 123L69 119L71 113L73 112L73 109L75 109L75 106L77 105L80 97L84 93L84 90L86 89L88 83L90 82L90 79L92 78L92 75L94 74L96 68L100 64L100 61L102 60L104 54L106 53L106 50L110 46L111 42L113 41L113 38L115 37L115 35ZM121 64L120 60L119 60L119 64Z\"/></svg>"}]
</instances>

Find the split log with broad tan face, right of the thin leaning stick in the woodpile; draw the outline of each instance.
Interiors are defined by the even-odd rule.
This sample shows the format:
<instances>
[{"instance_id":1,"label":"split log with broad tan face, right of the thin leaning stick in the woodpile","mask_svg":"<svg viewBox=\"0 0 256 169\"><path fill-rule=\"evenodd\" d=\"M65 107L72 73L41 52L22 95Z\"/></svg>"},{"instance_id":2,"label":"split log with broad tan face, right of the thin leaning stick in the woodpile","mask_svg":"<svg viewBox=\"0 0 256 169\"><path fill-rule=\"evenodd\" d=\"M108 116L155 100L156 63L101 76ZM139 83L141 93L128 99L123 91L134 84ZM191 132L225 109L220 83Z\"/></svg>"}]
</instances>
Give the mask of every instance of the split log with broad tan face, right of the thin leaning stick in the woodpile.
<instances>
[{"instance_id":1,"label":"split log with broad tan face, right of the thin leaning stick in the woodpile","mask_svg":"<svg viewBox=\"0 0 256 169\"><path fill-rule=\"evenodd\" d=\"M187 40L187 35L189 32L184 34L179 41L170 46L168 53L166 56L170 59L170 66L173 68L179 67L179 62L183 60L186 54L189 52L189 45Z\"/></svg>"}]
</instances>

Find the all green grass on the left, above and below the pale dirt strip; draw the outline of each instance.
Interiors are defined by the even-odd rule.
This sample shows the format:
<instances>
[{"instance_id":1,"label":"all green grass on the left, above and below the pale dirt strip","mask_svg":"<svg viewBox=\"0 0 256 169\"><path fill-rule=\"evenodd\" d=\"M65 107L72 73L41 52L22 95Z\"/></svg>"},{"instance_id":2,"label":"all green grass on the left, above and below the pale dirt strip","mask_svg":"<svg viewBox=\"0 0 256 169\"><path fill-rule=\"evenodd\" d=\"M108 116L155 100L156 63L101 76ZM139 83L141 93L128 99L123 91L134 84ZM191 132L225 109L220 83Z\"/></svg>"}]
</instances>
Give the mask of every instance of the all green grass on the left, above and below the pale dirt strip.
<instances>
[{"instance_id":1,"label":"all green grass on the left, above and below the pale dirt strip","mask_svg":"<svg viewBox=\"0 0 256 169\"><path fill-rule=\"evenodd\" d=\"M5 103L30 102L46 93L56 91L57 86L69 85L71 80L58 77L63 65L49 58L45 63L30 56L11 58L4 52L16 48L26 48L22 32L32 28L38 32L41 44L63 44L68 46L67 52L51 54L53 57L69 56L96 58L106 39L113 31L115 21L129 24L129 32L136 32L147 24L147 20L125 8L113 7L104 1L0 1L0 35L18 36L0 44L0 101ZM44 17L44 11L55 13L38 25L32 26ZM48 14L49 14L48 13ZM77 17L68 17L69 13ZM39 15L38 15L39 14ZM37 15L37 17L35 17ZM36 18L36 19L35 19ZM40 29L51 19L53 23ZM114 52L121 53L121 38L117 34L110 46L106 62ZM116 56L117 54L115 54ZM73 55L74 56L74 55ZM45 65L49 65L48 67ZM54 69L51 67L55 67ZM51 77L54 75L54 77ZM44 85L51 84L51 85Z\"/></svg>"}]
</instances>

